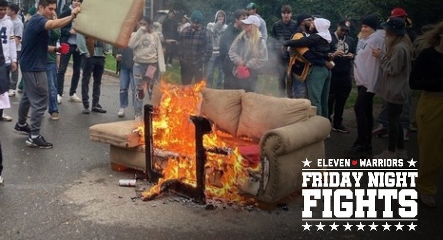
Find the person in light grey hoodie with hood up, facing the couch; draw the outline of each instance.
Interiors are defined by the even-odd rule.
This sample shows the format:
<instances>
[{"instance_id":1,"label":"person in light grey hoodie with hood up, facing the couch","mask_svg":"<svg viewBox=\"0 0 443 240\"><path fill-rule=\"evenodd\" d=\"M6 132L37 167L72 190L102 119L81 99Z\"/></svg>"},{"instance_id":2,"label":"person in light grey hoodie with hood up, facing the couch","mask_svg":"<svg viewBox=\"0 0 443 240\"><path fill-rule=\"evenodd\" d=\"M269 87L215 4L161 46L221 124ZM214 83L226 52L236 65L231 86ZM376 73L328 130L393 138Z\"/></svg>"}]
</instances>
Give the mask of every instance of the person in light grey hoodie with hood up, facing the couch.
<instances>
[{"instance_id":1,"label":"person in light grey hoodie with hood up, facing the couch","mask_svg":"<svg viewBox=\"0 0 443 240\"><path fill-rule=\"evenodd\" d=\"M212 55L206 65L206 86L209 88L212 87L216 68L219 70L217 88L222 89L223 87L224 74L222 71L222 61L220 59L220 38L227 26L226 13L222 10L217 11L215 14L214 23L209 23L207 25L207 28L212 35Z\"/></svg>"}]
</instances>

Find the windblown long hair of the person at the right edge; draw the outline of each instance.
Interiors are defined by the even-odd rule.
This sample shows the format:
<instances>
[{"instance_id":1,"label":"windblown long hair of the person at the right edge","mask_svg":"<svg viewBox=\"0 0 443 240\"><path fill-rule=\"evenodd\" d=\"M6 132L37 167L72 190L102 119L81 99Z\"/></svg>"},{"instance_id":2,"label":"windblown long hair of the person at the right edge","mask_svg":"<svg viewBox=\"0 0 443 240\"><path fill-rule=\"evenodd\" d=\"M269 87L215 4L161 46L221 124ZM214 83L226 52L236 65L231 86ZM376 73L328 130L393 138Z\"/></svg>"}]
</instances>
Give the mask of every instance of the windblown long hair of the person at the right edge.
<instances>
[{"instance_id":1,"label":"windblown long hair of the person at the right edge","mask_svg":"<svg viewBox=\"0 0 443 240\"><path fill-rule=\"evenodd\" d=\"M424 48L437 47L442 41L440 34L443 33L443 21L434 25L426 25L423 28L423 35L419 36L414 42L414 51L416 56Z\"/></svg>"}]
</instances>

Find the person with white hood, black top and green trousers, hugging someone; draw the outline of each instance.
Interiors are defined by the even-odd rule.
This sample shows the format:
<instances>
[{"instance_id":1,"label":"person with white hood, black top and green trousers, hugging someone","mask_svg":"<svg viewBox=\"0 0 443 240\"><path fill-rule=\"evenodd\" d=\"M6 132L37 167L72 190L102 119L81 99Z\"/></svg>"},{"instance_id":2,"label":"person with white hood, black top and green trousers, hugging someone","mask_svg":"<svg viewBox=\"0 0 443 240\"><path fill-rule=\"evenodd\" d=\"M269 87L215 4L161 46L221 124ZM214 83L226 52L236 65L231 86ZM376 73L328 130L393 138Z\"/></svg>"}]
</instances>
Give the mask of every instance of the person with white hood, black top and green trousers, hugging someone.
<instances>
[{"instance_id":1,"label":"person with white hood, black top and green trousers, hugging someone","mask_svg":"<svg viewBox=\"0 0 443 240\"><path fill-rule=\"evenodd\" d=\"M310 27L310 31L316 32L315 34L298 40L290 40L284 46L294 48L308 47L312 53L323 59L326 64L330 50L329 43L332 41L329 26L329 20L316 18ZM317 107L317 115L325 118L328 117L328 96L331 78L329 69L332 69L330 65L313 64L306 78L308 99L313 106Z\"/></svg>"}]
</instances>

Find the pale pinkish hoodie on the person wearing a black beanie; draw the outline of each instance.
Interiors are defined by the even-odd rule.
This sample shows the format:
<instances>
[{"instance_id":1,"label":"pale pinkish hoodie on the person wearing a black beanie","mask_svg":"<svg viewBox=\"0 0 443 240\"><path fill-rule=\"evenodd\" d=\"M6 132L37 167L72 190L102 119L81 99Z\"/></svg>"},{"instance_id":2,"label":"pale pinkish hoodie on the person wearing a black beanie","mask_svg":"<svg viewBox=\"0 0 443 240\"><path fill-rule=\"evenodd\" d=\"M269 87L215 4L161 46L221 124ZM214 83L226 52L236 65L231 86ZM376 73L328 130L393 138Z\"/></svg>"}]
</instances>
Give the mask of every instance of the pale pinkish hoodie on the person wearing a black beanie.
<instances>
[{"instance_id":1,"label":"pale pinkish hoodie on the person wearing a black beanie","mask_svg":"<svg viewBox=\"0 0 443 240\"><path fill-rule=\"evenodd\" d=\"M374 86L380 75L380 60L372 56L371 48L385 50L384 30L376 30L367 39L360 39L354 60L354 78L357 86L364 86L368 92L375 93Z\"/></svg>"}]
</instances>

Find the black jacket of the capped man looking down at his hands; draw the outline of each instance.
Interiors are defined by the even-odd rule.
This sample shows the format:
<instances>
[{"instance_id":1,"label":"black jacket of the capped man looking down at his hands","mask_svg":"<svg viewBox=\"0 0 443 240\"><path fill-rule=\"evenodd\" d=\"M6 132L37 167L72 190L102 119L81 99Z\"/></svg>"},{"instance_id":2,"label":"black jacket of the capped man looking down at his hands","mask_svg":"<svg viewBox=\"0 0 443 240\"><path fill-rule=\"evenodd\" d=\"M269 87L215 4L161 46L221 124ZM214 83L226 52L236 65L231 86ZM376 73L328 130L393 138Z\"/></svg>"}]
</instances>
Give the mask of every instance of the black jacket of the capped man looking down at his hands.
<instances>
[{"instance_id":1,"label":"black jacket of the capped man looking down at his hands","mask_svg":"<svg viewBox=\"0 0 443 240\"><path fill-rule=\"evenodd\" d=\"M335 33L331 34L332 36L332 41L331 41L331 52L335 52L337 50L337 48L344 48L342 50L344 50L345 54L347 53L352 53L355 55L355 41L353 38L349 37L349 36L345 36L344 38L344 43L342 46L342 44L339 44L339 40L337 39L337 36L335 35ZM332 72L334 73L349 73L351 71L352 68L352 60L346 57L335 57L334 58L334 63L335 66L332 69Z\"/></svg>"}]
</instances>

